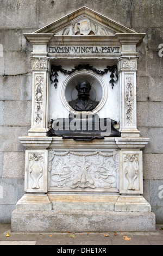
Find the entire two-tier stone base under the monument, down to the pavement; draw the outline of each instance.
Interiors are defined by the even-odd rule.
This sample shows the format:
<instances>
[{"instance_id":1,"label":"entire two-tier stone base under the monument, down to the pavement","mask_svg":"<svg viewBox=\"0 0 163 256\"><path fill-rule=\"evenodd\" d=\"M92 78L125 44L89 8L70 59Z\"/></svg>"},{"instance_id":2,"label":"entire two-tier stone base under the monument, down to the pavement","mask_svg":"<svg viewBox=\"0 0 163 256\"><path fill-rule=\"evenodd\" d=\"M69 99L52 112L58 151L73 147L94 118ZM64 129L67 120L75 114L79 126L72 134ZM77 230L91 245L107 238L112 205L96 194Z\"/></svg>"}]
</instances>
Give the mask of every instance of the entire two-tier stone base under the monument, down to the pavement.
<instances>
[{"instance_id":1,"label":"entire two-tier stone base under the monument, down to the pavement","mask_svg":"<svg viewBox=\"0 0 163 256\"><path fill-rule=\"evenodd\" d=\"M142 196L25 194L12 212L15 232L155 231Z\"/></svg>"}]
</instances>

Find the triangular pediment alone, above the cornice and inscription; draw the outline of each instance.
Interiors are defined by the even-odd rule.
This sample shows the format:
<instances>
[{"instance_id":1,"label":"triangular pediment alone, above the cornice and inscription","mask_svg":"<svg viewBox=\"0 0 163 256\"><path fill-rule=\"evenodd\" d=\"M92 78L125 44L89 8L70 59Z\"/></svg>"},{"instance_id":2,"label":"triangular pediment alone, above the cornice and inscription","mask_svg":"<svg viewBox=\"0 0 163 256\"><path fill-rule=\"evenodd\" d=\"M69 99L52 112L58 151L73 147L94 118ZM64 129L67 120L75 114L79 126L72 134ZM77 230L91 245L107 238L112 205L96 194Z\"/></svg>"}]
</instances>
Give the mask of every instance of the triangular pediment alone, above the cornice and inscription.
<instances>
[{"instance_id":1,"label":"triangular pediment alone, above the cornice and inscription","mask_svg":"<svg viewBox=\"0 0 163 256\"><path fill-rule=\"evenodd\" d=\"M106 18L87 7L80 8L34 33L53 33L54 35L136 34L136 32L131 29Z\"/></svg>"}]
</instances>

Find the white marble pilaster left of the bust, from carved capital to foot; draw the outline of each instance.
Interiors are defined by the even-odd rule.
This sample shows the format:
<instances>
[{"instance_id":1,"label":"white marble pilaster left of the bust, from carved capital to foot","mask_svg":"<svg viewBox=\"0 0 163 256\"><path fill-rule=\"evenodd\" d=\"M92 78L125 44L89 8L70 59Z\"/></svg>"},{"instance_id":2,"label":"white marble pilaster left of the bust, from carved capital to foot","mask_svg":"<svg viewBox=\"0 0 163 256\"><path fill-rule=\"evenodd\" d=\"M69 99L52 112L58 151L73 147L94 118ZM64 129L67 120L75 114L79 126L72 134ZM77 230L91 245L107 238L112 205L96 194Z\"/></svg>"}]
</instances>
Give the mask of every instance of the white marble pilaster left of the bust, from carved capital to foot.
<instances>
[{"instance_id":1,"label":"white marble pilaster left of the bust, from carved capital to foot","mask_svg":"<svg viewBox=\"0 0 163 256\"><path fill-rule=\"evenodd\" d=\"M47 97L49 82L49 59L32 57L32 122L29 136L46 136L47 132Z\"/></svg>"}]
</instances>

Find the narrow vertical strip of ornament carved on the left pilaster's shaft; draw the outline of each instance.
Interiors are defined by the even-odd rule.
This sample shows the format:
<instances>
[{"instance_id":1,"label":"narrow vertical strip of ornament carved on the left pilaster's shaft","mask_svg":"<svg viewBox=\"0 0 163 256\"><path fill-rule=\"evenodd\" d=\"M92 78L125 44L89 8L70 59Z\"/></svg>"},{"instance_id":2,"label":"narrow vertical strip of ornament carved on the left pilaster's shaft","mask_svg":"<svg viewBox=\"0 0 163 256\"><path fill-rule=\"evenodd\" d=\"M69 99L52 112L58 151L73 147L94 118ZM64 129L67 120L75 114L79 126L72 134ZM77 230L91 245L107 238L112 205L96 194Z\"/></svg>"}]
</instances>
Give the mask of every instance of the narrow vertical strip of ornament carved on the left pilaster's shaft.
<instances>
[{"instance_id":1,"label":"narrow vertical strip of ornament carved on the left pilaster's shaft","mask_svg":"<svg viewBox=\"0 0 163 256\"><path fill-rule=\"evenodd\" d=\"M40 124L42 121L42 103L43 103L43 76L36 76L35 84L35 122Z\"/></svg>"}]
</instances>

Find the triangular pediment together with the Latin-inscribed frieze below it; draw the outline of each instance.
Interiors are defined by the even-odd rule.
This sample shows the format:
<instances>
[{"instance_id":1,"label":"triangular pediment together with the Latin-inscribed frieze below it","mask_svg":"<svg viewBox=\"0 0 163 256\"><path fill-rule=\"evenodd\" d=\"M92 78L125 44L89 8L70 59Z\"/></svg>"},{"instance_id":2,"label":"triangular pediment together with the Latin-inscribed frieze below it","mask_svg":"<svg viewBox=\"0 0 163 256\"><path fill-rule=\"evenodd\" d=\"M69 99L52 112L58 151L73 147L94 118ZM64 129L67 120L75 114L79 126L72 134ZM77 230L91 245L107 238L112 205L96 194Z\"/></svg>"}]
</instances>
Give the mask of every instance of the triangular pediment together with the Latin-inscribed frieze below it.
<instances>
[{"instance_id":1,"label":"triangular pediment together with the Latin-inscribed frieze below it","mask_svg":"<svg viewBox=\"0 0 163 256\"><path fill-rule=\"evenodd\" d=\"M110 56L117 58L122 55L135 57L136 45L145 34L136 33L87 7L82 7L24 36L34 46L33 56L98 56L109 59Z\"/></svg>"}]
</instances>

